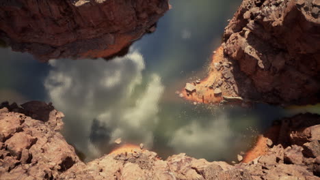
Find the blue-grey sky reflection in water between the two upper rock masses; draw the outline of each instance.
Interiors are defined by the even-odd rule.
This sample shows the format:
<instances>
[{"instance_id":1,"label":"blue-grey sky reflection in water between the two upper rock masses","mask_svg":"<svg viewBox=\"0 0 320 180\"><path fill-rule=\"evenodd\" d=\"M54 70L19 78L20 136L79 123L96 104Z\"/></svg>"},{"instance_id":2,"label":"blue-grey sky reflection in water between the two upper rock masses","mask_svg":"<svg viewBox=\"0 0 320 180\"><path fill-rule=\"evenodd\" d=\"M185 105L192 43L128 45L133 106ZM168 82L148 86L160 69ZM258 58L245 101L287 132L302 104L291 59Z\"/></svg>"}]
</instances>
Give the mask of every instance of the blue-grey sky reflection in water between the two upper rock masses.
<instances>
[{"instance_id":1,"label":"blue-grey sky reflection in water between the two upper rock masses","mask_svg":"<svg viewBox=\"0 0 320 180\"><path fill-rule=\"evenodd\" d=\"M159 72L168 82L187 76L181 71L202 68L213 48L219 46L227 19L241 2L176 0L170 3L172 10L159 20L157 31L134 44L146 61L152 61L146 62L146 71Z\"/></svg>"}]
</instances>

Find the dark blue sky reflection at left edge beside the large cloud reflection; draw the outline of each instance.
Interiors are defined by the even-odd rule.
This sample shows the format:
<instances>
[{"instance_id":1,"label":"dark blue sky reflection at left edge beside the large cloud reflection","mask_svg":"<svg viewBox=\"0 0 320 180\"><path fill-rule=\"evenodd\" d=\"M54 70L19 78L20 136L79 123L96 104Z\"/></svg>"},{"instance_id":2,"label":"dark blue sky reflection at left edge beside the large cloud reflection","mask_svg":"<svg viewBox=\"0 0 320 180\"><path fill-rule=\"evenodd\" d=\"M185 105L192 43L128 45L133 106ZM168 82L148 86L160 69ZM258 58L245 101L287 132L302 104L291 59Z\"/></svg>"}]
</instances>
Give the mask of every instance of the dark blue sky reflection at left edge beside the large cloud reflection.
<instances>
[{"instance_id":1,"label":"dark blue sky reflection at left edge beside the large cloud reflection","mask_svg":"<svg viewBox=\"0 0 320 180\"><path fill-rule=\"evenodd\" d=\"M38 63L31 55L0 48L0 101L25 102L46 97L43 80L49 65Z\"/></svg>"}]
</instances>

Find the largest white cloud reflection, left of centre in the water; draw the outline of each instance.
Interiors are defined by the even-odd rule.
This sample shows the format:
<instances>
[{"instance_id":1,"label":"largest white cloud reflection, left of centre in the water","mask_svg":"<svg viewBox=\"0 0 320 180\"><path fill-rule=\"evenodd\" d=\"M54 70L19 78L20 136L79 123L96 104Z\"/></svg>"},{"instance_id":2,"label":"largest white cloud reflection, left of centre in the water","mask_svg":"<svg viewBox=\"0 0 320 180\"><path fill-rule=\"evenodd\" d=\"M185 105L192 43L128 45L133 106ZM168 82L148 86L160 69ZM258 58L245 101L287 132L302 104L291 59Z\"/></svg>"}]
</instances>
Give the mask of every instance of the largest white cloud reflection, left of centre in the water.
<instances>
[{"instance_id":1,"label":"largest white cloud reflection, left of centre in the water","mask_svg":"<svg viewBox=\"0 0 320 180\"><path fill-rule=\"evenodd\" d=\"M157 74L151 74L144 87L145 65L139 52L107 62L61 59L51 60L50 64L54 68L44 86L55 108L65 112L64 134L76 147L94 151L92 155L96 156L97 149L93 150L89 142L93 119L106 126L100 133L109 138L109 143L121 137L124 142L152 146L164 87Z\"/></svg>"}]
</instances>

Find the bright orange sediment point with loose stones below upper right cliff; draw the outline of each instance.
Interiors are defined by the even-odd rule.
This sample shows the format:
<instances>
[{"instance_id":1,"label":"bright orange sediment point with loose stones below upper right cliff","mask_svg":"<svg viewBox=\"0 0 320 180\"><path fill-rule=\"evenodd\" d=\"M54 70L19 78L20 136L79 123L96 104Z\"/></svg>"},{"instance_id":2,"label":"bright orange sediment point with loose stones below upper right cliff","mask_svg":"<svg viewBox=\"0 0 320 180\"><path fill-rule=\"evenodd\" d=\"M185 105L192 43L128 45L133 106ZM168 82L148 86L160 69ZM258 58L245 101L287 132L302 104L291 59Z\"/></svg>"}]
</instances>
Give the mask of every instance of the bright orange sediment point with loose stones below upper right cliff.
<instances>
[{"instance_id":1,"label":"bright orange sediment point with loose stones below upper right cliff","mask_svg":"<svg viewBox=\"0 0 320 180\"><path fill-rule=\"evenodd\" d=\"M221 72L215 70L214 63L219 63L222 61L224 61L224 48L220 46L217 48L217 50L215 50L215 53L213 53L208 76L203 80L200 80L199 84L191 82L191 84L196 85L196 91L188 93L185 89L183 89L183 91L181 91L183 97L191 102L217 104L223 100L222 95L230 96L230 94L227 91L223 91L223 89L221 95L215 95L215 87L213 87L213 89L210 88L210 85L213 85L222 76Z\"/></svg>"}]
</instances>

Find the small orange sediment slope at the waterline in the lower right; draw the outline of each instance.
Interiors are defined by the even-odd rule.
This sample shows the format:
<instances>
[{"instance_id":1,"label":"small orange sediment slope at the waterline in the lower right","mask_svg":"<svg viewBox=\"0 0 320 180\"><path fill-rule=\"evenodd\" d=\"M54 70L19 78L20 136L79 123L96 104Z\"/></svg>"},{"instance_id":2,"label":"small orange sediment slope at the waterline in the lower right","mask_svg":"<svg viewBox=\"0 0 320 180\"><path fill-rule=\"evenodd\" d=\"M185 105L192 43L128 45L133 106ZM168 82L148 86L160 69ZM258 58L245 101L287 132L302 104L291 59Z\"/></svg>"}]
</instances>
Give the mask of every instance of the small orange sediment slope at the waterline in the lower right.
<instances>
[{"instance_id":1,"label":"small orange sediment slope at the waterline in the lower right","mask_svg":"<svg viewBox=\"0 0 320 180\"><path fill-rule=\"evenodd\" d=\"M269 138L272 142L276 142L280 132L280 125L274 125L265 132L265 134L260 134L256 140L256 143L252 149L250 149L243 157L243 163L251 162L261 155L265 155L269 147L267 145L267 139Z\"/></svg>"}]
</instances>

